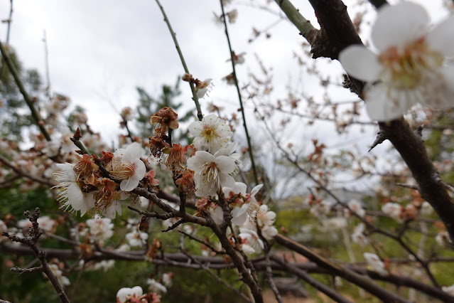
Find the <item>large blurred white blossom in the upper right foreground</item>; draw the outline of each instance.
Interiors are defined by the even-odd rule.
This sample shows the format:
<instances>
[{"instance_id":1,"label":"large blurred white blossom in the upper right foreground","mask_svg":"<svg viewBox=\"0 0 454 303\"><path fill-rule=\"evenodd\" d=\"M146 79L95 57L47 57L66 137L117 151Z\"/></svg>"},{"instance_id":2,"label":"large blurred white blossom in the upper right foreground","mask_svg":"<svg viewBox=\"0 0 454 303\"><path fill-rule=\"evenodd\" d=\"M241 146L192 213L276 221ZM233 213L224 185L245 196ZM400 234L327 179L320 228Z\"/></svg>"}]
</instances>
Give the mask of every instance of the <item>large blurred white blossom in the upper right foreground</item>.
<instances>
[{"instance_id":1,"label":"large blurred white blossom in the upper right foreground","mask_svg":"<svg viewBox=\"0 0 454 303\"><path fill-rule=\"evenodd\" d=\"M429 24L426 10L417 4L383 6L372 27L378 54L364 46L340 52L347 73L369 83L364 100L371 119L396 119L416 103L453 107L454 65L446 59L454 56L454 16L430 30Z\"/></svg>"}]
</instances>

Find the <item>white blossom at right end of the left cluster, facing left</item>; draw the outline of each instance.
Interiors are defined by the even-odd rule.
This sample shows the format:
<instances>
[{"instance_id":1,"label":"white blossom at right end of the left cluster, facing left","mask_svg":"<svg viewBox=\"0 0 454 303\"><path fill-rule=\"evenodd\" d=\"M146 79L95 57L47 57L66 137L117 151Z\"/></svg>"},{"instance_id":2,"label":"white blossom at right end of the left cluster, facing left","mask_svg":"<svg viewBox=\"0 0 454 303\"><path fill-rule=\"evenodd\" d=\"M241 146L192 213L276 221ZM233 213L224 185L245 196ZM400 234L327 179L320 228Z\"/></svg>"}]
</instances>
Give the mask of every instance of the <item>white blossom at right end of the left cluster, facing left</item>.
<instances>
[{"instance_id":1,"label":"white blossom at right end of the left cluster, facing left","mask_svg":"<svg viewBox=\"0 0 454 303\"><path fill-rule=\"evenodd\" d=\"M146 167L140 157L144 154L144 149L137 142L129 145L126 149L117 149L112 160L112 178L122 180L120 183L121 191L132 191L139 185L139 181L144 179Z\"/></svg>"}]
</instances>

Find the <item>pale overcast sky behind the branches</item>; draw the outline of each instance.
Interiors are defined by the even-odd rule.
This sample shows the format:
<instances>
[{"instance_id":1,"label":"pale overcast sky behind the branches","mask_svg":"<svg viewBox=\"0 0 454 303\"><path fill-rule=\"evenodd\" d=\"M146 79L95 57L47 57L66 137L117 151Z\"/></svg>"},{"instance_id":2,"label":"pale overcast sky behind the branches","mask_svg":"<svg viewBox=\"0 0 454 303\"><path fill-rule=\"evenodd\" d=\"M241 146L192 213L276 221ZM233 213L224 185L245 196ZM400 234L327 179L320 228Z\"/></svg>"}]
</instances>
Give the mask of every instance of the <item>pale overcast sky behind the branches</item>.
<instances>
[{"instance_id":1,"label":"pale overcast sky behind the branches","mask_svg":"<svg viewBox=\"0 0 454 303\"><path fill-rule=\"evenodd\" d=\"M247 80L248 71L257 70L254 53L258 53L264 64L273 68L276 98L285 97L288 86L299 85L299 90L310 92L310 78L301 75L293 58L294 51L301 52L303 38L291 23L281 21L269 31L271 38L261 37L248 43L253 27L263 29L279 20L279 16L247 5L252 2L266 3L265 0L233 1L226 7L226 11L235 8L239 11L237 22L229 25L232 47L237 53L247 53L247 64L238 66L239 80ZM347 6L352 2L355 1L345 1ZM417 2L426 6L430 2L427 9L435 21L446 15L441 12L441 1ZM8 18L9 3L9 0L0 0L1 19ZM213 12L220 14L219 1L162 0L161 4L177 34L190 73L200 80L213 79L215 86L210 97L201 101L202 109L207 102L214 101L234 111L238 107L236 91L221 80L231 72L231 65L226 62L229 58L227 41L222 27L213 22ZM298 0L293 4L318 27L308 1ZM279 11L274 3L269 9ZM349 11L352 11L351 6ZM369 20L373 18L373 12L367 16ZM92 128L101 132L107 142L120 132L118 111L136 106L136 86L157 95L163 83L173 85L177 76L183 74L166 23L153 0L15 0L11 26L11 46L16 48L26 68L36 68L41 75L45 70L42 40L46 31L53 92L71 97L73 106L85 107ZM1 24L0 30L4 41L6 25ZM340 77L342 68L333 61L325 72ZM296 82L301 79L301 83ZM193 107L187 83L181 83L180 88L183 94L179 101ZM338 100L355 98L346 90L336 93L336 97ZM252 110L247 114L252 116ZM367 150L376 131L371 128L367 134L338 137L325 135L333 134L333 127L319 127L300 135L307 141L315 136L325 141L330 139L328 147L362 140L361 149Z\"/></svg>"}]
</instances>

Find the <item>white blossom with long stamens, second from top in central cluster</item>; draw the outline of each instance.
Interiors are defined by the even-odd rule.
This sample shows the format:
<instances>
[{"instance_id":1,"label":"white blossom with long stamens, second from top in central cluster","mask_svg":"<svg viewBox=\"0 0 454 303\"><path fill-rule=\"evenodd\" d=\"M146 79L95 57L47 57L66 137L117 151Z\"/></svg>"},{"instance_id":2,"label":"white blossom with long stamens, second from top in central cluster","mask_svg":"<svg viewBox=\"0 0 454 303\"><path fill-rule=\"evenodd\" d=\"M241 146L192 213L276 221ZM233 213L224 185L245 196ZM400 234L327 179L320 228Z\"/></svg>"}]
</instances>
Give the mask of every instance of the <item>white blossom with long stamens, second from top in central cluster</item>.
<instances>
[{"instance_id":1,"label":"white blossom with long stamens, second from top in central cluster","mask_svg":"<svg viewBox=\"0 0 454 303\"><path fill-rule=\"evenodd\" d=\"M207 151L196 151L188 159L188 169L195 171L197 185L195 195L199 197L215 196L222 186L234 186L230 174L234 171L234 161L228 156L213 156Z\"/></svg>"}]
</instances>

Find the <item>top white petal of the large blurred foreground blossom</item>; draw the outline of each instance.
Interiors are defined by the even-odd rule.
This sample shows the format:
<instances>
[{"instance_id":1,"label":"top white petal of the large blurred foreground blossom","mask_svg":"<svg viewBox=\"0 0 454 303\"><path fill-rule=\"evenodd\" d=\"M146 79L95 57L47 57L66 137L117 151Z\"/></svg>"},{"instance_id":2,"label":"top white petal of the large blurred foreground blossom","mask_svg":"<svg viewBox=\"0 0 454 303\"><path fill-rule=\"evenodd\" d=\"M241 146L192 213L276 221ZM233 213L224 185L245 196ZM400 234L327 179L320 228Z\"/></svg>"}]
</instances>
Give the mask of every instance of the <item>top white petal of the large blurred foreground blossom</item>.
<instances>
[{"instance_id":1,"label":"top white petal of the large blurred foreground blossom","mask_svg":"<svg viewBox=\"0 0 454 303\"><path fill-rule=\"evenodd\" d=\"M418 4L402 2L384 6L372 27L372 41L379 50L390 46L404 46L423 36L429 24L425 9Z\"/></svg>"}]
</instances>

